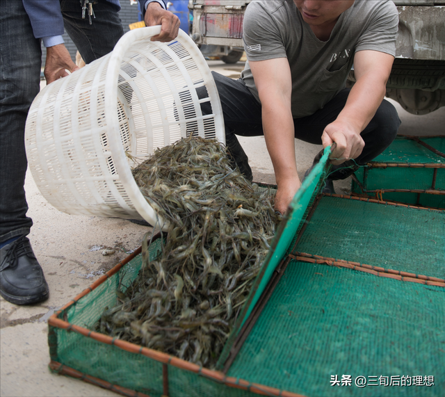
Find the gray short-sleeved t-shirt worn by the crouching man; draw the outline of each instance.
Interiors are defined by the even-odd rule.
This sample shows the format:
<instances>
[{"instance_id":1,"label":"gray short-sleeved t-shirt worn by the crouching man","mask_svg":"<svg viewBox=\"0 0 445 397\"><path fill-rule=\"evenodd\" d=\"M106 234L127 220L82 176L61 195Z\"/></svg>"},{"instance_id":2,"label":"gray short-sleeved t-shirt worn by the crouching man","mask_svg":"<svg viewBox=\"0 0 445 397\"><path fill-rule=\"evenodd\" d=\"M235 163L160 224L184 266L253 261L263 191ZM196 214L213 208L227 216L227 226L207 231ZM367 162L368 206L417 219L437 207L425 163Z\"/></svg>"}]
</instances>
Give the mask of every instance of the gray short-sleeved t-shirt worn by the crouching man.
<instances>
[{"instance_id":1,"label":"gray short-sleeved t-shirt worn by the crouching man","mask_svg":"<svg viewBox=\"0 0 445 397\"><path fill-rule=\"evenodd\" d=\"M244 16L248 60L288 58L292 75L292 115L323 108L346 84L354 54L375 50L396 55L398 11L389 0L355 0L342 13L330 39L316 38L293 0L254 0ZM248 62L241 79L258 99Z\"/></svg>"}]
</instances>

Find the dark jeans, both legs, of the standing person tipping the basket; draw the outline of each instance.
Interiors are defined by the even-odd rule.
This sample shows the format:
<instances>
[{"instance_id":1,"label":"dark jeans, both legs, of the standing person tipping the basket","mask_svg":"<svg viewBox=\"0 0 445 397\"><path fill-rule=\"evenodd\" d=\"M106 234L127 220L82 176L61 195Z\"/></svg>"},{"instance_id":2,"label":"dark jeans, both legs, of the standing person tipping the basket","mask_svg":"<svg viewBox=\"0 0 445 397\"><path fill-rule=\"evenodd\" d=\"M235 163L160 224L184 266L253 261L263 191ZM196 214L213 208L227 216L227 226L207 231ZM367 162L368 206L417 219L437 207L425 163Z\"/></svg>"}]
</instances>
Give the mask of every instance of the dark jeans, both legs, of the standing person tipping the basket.
<instances>
[{"instance_id":1,"label":"dark jeans, both legs, of the standing person tipping the basket","mask_svg":"<svg viewBox=\"0 0 445 397\"><path fill-rule=\"evenodd\" d=\"M123 35L117 8L99 0L92 25L81 19L79 0L61 0L65 29L86 63L112 51ZM0 1L0 243L29 234L24 191L24 128L40 90L42 50L21 0Z\"/></svg>"}]
</instances>

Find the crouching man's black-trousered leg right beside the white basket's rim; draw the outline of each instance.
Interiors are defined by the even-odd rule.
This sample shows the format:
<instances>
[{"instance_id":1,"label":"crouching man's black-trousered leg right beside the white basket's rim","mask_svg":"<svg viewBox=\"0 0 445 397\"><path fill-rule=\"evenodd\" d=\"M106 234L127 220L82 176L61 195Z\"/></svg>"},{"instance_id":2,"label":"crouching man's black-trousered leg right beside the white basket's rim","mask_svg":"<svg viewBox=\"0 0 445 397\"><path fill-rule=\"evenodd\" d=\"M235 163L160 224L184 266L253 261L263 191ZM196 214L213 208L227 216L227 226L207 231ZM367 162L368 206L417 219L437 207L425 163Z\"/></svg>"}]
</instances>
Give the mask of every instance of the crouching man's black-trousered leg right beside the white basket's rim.
<instances>
[{"instance_id":1,"label":"crouching man's black-trousered leg right beside the white basket's rim","mask_svg":"<svg viewBox=\"0 0 445 397\"><path fill-rule=\"evenodd\" d=\"M243 81L230 79L222 74L212 72L221 107L223 108L225 139L229 154L232 155L235 164L241 173L252 181L252 170L248 162L248 156L241 147L236 135L261 136L263 126L261 123L261 104L250 93ZM198 95L199 92L198 92ZM202 106L204 114L211 113L209 104Z\"/></svg>"}]
</instances>

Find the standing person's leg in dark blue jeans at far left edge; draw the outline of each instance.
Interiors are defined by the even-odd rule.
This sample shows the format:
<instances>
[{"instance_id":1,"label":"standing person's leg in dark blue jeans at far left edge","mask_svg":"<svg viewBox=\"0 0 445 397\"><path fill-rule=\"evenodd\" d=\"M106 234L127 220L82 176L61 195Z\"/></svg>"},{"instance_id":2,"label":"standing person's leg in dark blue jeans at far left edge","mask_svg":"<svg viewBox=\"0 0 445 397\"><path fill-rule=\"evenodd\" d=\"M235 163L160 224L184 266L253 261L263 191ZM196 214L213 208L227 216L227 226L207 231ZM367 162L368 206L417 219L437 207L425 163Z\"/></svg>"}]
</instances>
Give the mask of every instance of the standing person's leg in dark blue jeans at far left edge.
<instances>
[{"instance_id":1,"label":"standing person's leg in dark blue jeans at far left edge","mask_svg":"<svg viewBox=\"0 0 445 397\"><path fill-rule=\"evenodd\" d=\"M0 12L0 243L29 234L24 191L26 116L40 90L40 40L22 1L1 1Z\"/></svg>"}]
</instances>

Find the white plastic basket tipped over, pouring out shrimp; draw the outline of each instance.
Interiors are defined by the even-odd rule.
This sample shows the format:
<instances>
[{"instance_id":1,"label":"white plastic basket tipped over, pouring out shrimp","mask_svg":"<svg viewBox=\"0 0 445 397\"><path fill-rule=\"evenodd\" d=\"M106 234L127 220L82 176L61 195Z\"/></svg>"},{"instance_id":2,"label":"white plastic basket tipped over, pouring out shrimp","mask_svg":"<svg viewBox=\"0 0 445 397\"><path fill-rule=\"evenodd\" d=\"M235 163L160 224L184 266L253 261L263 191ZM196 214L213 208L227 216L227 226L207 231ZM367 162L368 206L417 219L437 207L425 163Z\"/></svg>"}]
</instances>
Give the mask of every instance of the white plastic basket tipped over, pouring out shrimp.
<instances>
[{"instance_id":1,"label":"white plastic basket tipped over, pouring out shrimp","mask_svg":"<svg viewBox=\"0 0 445 397\"><path fill-rule=\"evenodd\" d=\"M220 99L200 50L183 31L169 43L150 41L160 31L129 31L113 52L35 97L26 155L40 192L60 211L162 226L127 154L141 162L191 133L225 143ZM211 115L202 115L202 102L210 102Z\"/></svg>"}]
</instances>

